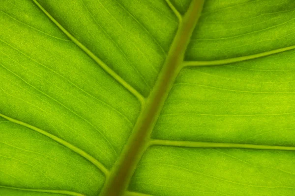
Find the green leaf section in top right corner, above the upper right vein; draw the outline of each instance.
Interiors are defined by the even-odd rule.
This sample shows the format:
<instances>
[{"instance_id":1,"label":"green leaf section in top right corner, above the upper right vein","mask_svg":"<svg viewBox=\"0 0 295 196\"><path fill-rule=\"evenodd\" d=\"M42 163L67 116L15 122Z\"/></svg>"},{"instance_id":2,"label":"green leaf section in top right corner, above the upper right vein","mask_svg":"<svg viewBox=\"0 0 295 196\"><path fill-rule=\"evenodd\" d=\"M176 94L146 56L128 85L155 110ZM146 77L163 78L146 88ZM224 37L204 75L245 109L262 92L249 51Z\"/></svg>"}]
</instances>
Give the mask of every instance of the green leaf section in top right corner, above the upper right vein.
<instances>
[{"instance_id":1,"label":"green leaf section in top right corner, above the upper right vein","mask_svg":"<svg viewBox=\"0 0 295 196\"><path fill-rule=\"evenodd\" d=\"M295 45L294 0L206 0L186 60L218 60Z\"/></svg>"}]
</instances>

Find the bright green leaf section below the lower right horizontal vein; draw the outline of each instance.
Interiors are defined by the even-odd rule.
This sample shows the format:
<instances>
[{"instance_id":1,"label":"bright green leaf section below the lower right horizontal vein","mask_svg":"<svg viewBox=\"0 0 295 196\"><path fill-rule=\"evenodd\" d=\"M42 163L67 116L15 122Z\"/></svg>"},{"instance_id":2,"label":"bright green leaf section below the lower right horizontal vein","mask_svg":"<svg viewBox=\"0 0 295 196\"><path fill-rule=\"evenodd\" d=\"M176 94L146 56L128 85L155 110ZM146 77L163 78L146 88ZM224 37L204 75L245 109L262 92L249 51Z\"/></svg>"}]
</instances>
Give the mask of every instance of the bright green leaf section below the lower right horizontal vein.
<instances>
[{"instance_id":1,"label":"bright green leaf section below the lower right horizontal vein","mask_svg":"<svg viewBox=\"0 0 295 196\"><path fill-rule=\"evenodd\" d=\"M150 147L130 184L151 196L294 196L294 151Z\"/></svg>"}]
</instances>

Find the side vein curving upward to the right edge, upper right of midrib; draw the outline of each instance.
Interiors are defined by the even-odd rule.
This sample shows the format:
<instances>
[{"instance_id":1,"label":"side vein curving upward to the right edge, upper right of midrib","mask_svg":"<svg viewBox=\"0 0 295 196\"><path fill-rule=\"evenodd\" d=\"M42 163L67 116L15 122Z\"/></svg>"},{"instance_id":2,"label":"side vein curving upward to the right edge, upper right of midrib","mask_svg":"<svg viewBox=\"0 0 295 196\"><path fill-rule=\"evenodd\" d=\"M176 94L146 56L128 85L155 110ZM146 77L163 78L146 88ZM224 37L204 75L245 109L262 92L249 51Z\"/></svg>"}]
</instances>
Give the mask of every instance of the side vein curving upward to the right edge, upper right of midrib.
<instances>
[{"instance_id":1,"label":"side vein curving upward to the right edge, upper right of midrib","mask_svg":"<svg viewBox=\"0 0 295 196\"><path fill-rule=\"evenodd\" d=\"M251 59L256 59L264 56L269 56L271 54L277 54L280 52L288 51L295 49L295 46L289 46L281 49L274 49L258 54L252 54L252 55L247 55L247 56L240 56L240 57L235 57L235 58L229 58L229 59L222 59L222 60L214 60L214 61L184 61L182 66L187 67L187 66L216 66L216 65L226 65L230 63L236 63L240 61L246 61L246 60L251 60Z\"/></svg>"}]
</instances>

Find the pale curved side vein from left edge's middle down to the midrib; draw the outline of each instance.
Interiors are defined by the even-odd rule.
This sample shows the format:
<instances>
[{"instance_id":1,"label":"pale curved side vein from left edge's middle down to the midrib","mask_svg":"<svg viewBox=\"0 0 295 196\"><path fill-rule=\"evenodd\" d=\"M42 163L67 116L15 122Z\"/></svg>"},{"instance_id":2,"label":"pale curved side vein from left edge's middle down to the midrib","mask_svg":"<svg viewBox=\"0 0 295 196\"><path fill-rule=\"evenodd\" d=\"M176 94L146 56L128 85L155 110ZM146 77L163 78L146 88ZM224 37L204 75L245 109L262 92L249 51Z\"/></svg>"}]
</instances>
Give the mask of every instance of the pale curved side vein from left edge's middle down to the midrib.
<instances>
[{"instance_id":1,"label":"pale curved side vein from left edge's middle down to the midrib","mask_svg":"<svg viewBox=\"0 0 295 196\"><path fill-rule=\"evenodd\" d=\"M22 126L25 126L29 129L32 129L34 131L37 131L38 133L41 133L42 135L45 135L53 140L55 140L56 142L58 142L59 144L65 146L65 147L68 147L69 149L73 150L74 152L76 152L77 154L81 155L82 157L86 158L87 160L89 160L94 166L96 166L101 172L103 172L105 174L105 176L108 176L109 175L109 171L105 168L104 165L102 165L98 160L96 160L94 157L92 157L91 155L89 155L87 152L83 151L82 149L78 148L78 147L75 147L74 145L60 139L59 137L55 136L55 135L52 135L50 133L48 133L47 131L44 131L42 129L39 129L35 126L32 126L28 123L24 123L22 121L19 121L19 120L16 120L16 119L13 119L13 118L10 118L6 115L3 115L3 114L0 114L0 117L8 120L8 121L11 121L13 123L17 123L17 124L20 124Z\"/></svg>"}]
</instances>

